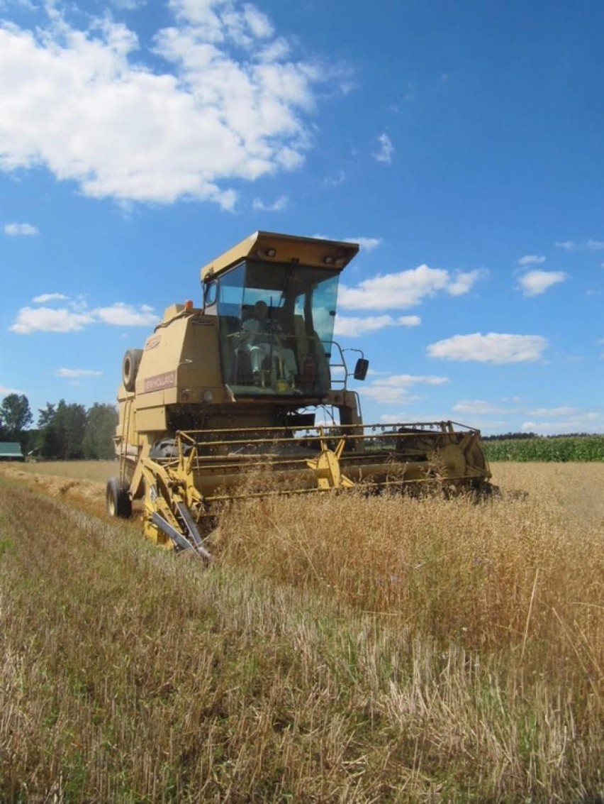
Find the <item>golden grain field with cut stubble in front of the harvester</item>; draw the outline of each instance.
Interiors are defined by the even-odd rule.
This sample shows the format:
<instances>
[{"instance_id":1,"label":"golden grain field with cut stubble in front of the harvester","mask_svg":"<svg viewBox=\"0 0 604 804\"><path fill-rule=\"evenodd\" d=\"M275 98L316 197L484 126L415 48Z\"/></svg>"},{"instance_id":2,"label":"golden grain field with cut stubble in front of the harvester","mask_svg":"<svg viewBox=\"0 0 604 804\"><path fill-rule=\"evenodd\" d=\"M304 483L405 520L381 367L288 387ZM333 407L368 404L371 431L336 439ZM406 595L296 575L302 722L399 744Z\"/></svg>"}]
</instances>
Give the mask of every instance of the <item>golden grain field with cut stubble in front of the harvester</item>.
<instances>
[{"instance_id":1,"label":"golden grain field with cut stubble in front of the harvester","mask_svg":"<svg viewBox=\"0 0 604 804\"><path fill-rule=\"evenodd\" d=\"M0 801L604 801L604 464L225 506L211 568L0 464Z\"/></svg>"}]
</instances>

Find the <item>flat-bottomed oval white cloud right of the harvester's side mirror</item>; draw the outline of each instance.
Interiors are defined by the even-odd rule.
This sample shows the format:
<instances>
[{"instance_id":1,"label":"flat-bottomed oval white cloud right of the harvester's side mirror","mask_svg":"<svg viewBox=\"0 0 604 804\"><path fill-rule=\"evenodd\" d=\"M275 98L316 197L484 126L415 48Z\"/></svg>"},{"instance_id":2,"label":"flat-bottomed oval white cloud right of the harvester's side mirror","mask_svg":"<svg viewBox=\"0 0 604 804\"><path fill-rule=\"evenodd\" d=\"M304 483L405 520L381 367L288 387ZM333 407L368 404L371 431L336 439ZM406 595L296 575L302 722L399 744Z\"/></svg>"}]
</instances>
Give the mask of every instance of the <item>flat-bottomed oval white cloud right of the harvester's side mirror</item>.
<instances>
[{"instance_id":1,"label":"flat-bottomed oval white cloud right of the harvester's side mirror","mask_svg":"<svg viewBox=\"0 0 604 804\"><path fill-rule=\"evenodd\" d=\"M429 357L445 360L475 360L478 363L526 363L541 359L548 342L541 335L510 335L475 332L454 335L431 343Z\"/></svg>"}]
</instances>

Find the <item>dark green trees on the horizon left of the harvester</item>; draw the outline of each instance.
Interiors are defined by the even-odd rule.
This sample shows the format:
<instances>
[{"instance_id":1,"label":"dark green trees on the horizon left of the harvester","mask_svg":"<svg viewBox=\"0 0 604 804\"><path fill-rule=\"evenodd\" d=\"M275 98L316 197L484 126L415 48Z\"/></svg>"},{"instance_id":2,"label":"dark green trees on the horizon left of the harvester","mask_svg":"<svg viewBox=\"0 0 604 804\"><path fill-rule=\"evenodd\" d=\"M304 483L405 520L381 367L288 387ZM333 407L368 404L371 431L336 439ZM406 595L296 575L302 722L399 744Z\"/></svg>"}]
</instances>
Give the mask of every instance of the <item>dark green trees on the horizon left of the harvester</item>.
<instances>
[{"instance_id":1,"label":"dark green trees on the horizon left of the harvester","mask_svg":"<svg viewBox=\"0 0 604 804\"><path fill-rule=\"evenodd\" d=\"M0 441L18 441L24 455L45 460L110 460L115 457L112 438L117 411L112 404L47 402L38 409L37 427L24 394L9 394L0 403Z\"/></svg>"}]
</instances>

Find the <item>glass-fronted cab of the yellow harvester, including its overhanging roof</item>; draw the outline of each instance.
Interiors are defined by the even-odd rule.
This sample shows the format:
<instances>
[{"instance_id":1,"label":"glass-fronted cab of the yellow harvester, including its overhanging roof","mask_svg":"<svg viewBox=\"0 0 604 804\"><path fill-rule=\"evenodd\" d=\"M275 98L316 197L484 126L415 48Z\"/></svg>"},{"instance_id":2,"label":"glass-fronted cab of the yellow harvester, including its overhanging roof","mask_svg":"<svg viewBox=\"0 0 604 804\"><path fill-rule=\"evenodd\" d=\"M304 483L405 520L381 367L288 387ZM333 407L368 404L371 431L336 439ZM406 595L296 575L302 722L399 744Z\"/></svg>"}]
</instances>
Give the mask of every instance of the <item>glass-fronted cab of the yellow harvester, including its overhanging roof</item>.
<instances>
[{"instance_id":1,"label":"glass-fronted cab of the yellow harvester, including its overhanging roof","mask_svg":"<svg viewBox=\"0 0 604 804\"><path fill-rule=\"evenodd\" d=\"M358 246L257 232L202 269L222 376L239 398L300 404L331 390L337 284Z\"/></svg>"}]
</instances>

